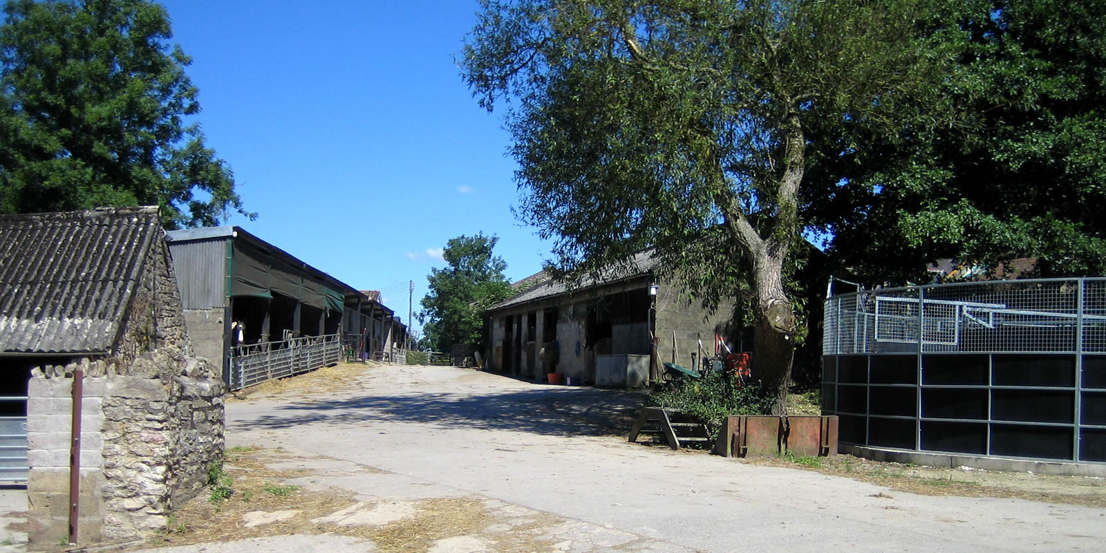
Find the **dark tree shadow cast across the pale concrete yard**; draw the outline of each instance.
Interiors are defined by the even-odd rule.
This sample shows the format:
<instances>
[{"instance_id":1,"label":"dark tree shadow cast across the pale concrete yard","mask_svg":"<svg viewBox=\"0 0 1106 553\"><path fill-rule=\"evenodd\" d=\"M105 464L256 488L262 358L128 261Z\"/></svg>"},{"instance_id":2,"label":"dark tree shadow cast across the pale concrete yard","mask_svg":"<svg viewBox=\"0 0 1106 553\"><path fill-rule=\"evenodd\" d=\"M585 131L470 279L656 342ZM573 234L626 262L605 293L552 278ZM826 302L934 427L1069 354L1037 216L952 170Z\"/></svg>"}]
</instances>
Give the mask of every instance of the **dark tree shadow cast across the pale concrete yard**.
<instances>
[{"instance_id":1,"label":"dark tree shadow cast across the pale concrete yard","mask_svg":"<svg viewBox=\"0 0 1106 553\"><path fill-rule=\"evenodd\" d=\"M486 394L366 396L289 404L238 420L228 430L388 421L550 436L625 436L643 399L644 393L637 392L552 386Z\"/></svg>"}]
</instances>

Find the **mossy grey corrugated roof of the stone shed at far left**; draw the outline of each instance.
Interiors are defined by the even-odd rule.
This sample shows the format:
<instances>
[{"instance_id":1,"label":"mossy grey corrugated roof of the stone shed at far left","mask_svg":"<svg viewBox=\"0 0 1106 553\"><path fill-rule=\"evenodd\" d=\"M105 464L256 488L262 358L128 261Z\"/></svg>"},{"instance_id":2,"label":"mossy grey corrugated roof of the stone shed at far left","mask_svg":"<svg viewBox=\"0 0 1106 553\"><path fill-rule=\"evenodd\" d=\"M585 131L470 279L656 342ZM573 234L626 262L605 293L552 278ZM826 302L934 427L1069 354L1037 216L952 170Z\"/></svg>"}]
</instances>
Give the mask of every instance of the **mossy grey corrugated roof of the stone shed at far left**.
<instances>
[{"instance_id":1,"label":"mossy grey corrugated roof of the stone shed at far left","mask_svg":"<svg viewBox=\"0 0 1106 553\"><path fill-rule=\"evenodd\" d=\"M0 352L109 352L164 236L156 207L0 216Z\"/></svg>"}]
</instances>

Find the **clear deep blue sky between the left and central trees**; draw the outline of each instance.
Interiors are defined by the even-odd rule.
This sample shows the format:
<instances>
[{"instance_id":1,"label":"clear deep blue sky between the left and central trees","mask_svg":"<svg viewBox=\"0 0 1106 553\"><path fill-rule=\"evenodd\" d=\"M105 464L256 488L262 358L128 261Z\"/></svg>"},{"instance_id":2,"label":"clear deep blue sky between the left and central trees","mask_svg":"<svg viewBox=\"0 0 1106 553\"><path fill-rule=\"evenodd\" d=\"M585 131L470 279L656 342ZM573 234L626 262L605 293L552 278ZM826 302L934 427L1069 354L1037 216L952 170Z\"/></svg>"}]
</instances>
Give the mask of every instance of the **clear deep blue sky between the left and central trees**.
<instances>
[{"instance_id":1,"label":"clear deep blue sky between the left and central trees","mask_svg":"<svg viewBox=\"0 0 1106 553\"><path fill-rule=\"evenodd\" d=\"M192 58L209 147L255 221L238 225L407 316L440 250L500 237L507 275L550 246L511 212L515 164L499 112L459 76L474 0L164 0ZM416 325L417 326L417 325Z\"/></svg>"}]
</instances>

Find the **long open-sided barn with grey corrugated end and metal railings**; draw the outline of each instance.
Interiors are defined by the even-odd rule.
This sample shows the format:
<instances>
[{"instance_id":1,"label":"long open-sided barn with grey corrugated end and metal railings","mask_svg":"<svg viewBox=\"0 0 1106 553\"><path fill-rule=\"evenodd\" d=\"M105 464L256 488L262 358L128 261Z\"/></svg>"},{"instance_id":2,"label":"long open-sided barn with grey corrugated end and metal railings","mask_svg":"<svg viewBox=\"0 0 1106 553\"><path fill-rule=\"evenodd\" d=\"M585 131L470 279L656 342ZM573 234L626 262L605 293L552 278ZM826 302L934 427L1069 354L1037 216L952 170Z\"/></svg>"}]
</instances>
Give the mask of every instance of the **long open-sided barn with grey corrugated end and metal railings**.
<instances>
[{"instance_id":1,"label":"long open-sided barn with grey corrugated end and metal railings","mask_svg":"<svg viewBox=\"0 0 1106 553\"><path fill-rule=\"evenodd\" d=\"M167 233L197 355L240 389L343 356L392 358L395 313L241 227Z\"/></svg>"}]
</instances>

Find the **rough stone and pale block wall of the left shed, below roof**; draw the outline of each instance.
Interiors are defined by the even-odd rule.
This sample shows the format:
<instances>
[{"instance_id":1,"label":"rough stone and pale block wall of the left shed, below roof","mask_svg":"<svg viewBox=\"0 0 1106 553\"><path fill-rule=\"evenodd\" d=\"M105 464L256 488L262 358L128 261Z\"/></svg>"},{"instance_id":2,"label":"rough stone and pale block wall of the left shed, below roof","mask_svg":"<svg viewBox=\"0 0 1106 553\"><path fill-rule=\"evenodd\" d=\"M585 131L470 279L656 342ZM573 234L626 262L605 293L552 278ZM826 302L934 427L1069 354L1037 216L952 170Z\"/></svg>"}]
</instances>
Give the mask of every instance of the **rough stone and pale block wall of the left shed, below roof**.
<instances>
[{"instance_id":1,"label":"rough stone and pale block wall of the left shed, below roof","mask_svg":"<svg viewBox=\"0 0 1106 553\"><path fill-rule=\"evenodd\" d=\"M222 460L225 387L191 354L164 242L145 260L115 355L32 371L28 386L29 538L69 534L74 371L85 371L81 431L81 543L164 529Z\"/></svg>"}]
</instances>

